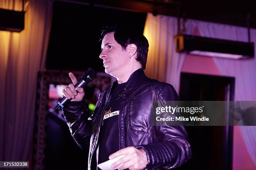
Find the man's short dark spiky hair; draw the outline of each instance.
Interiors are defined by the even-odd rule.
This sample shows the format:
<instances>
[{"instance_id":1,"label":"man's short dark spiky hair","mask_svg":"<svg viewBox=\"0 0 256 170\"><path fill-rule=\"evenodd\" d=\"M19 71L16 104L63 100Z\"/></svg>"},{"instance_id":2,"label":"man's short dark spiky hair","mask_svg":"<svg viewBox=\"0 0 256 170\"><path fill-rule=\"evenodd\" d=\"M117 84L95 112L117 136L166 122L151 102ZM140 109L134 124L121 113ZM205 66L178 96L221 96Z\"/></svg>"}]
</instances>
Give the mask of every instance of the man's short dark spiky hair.
<instances>
[{"instance_id":1,"label":"man's short dark spiky hair","mask_svg":"<svg viewBox=\"0 0 256 170\"><path fill-rule=\"evenodd\" d=\"M123 50L126 50L129 44L135 44L137 46L136 60L145 69L148 56L148 40L146 37L134 28L125 25L112 25L102 29L100 41L110 32L114 32L114 38L122 46Z\"/></svg>"}]
</instances>

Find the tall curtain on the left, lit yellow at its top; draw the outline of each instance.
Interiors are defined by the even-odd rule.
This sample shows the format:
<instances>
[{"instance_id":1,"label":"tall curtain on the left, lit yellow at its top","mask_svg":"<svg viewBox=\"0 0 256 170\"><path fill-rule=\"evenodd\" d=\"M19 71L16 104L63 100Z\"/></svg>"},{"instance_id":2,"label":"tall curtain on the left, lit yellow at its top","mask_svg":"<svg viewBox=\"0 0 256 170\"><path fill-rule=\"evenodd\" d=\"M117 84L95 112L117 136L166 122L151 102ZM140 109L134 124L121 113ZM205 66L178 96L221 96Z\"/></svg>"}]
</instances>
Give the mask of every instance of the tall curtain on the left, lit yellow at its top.
<instances>
[{"instance_id":1,"label":"tall curtain on the left, lit yellow at its top","mask_svg":"<svg viewBox=\"0 0 256 170\"><path fill-rule=\"evenodd\" d=\"M35 119L37 73L44 70L53 0L25 1L25 29L0 31L0 160L28 161ZM0 0L22 10L22 0Z\"/></svg>"}]
</instances>

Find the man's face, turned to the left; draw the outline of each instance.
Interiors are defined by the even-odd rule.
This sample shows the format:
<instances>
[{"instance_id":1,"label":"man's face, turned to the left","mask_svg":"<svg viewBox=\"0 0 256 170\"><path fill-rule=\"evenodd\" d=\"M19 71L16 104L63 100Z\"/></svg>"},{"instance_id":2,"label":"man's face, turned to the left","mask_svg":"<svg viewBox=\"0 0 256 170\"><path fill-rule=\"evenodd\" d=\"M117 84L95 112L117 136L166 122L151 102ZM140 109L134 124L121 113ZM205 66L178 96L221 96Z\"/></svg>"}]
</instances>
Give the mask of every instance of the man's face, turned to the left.
<instances>
[{"instance_id":1,"label":"man's face, turned to the left","mask_svg":"<svg viewBox=\"0 0 256 170\"><path fill-rule=\"evenodd\" d=\"M128 52L115 41L114 32L106 34L101 44L100 58L103 60L105 72L110 75L120 74L128 67Z\"/></svg>"}]
</instances>

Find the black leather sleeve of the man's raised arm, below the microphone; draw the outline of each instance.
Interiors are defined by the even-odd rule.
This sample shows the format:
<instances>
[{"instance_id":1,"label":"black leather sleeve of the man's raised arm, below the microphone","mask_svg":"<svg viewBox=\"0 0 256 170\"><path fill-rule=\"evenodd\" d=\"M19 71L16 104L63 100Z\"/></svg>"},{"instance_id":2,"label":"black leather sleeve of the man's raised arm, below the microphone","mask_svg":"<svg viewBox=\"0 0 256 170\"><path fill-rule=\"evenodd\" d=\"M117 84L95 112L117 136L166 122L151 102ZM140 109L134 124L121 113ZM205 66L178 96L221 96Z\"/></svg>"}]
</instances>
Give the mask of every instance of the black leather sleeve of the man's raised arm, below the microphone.
<instances>
[{"instance_id":1,"label":"black leather sleeve of the man's raised arm, below the microphone","mask_svg":"<svg viewBox=\"0 0 256 170\"><path fill-rule=\"evenodd\" d=\"M63 115L77 145L84 149L90 145L92 122L88 120L84 101L69 102L63 107Z\"/></svg>"}]
</instances>

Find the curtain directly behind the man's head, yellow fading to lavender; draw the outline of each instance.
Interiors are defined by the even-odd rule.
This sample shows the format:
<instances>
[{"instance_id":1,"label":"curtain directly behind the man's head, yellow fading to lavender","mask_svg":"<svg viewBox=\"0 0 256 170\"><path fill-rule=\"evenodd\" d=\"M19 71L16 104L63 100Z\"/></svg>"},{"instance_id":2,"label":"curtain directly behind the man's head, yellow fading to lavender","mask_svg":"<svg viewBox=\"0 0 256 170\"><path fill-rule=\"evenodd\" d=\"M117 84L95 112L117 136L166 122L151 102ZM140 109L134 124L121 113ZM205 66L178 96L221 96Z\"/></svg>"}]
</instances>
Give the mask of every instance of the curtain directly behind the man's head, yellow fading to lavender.
<instances>
[{"instance_id":1,"label":"curtain directly behind the man's head, yellow fading to lavender","mask_svg":"<svg viewBox=\"0 0 256 170\"><path fill-rule=\"evenodd\" d=\"M194 23L186 22L184 33L192 34ZM179 79L185 54L175 51L177 18L148 13L144 35L148 39L148 58L145 73L148 77L170 83L179 92Z\"/></svg>"}]
</instances>

